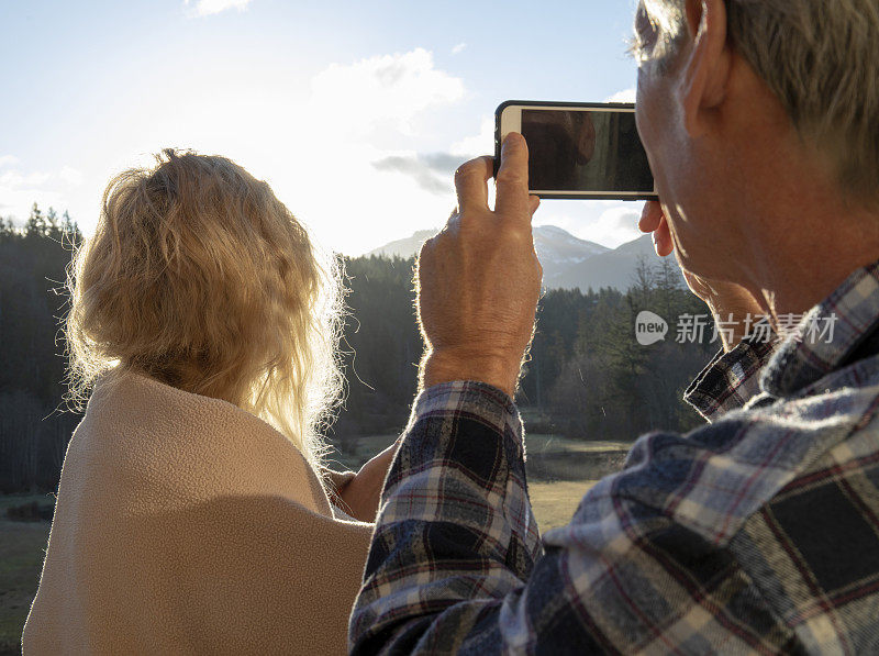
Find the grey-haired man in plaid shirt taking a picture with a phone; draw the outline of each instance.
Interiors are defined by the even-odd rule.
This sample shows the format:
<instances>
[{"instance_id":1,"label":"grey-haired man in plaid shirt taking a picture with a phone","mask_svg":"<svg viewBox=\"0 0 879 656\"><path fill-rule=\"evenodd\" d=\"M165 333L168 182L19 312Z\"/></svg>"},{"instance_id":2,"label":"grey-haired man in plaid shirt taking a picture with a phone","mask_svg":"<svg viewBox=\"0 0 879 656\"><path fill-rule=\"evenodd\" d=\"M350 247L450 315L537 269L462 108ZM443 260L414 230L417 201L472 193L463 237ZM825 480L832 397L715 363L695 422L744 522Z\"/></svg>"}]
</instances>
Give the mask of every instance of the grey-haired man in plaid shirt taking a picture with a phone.
<instances>
[{"instance_id":1,"label":"grey-haired man in plaid shirt taking a picture with a phone","mask_svg":"<svg viewBox=\"0 0 879 656\"><path fill-rule=\"evenodd\" d=\"M636 31L641 227L716 318L783 341L728 340L687 392L710 423L642 436L542 544L512 401L541 277L524 141L494 211L489 162L461 167L356 654L879 653L879 5L643 0Z\"/></svg>"}]
</instances>

